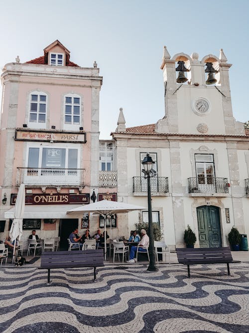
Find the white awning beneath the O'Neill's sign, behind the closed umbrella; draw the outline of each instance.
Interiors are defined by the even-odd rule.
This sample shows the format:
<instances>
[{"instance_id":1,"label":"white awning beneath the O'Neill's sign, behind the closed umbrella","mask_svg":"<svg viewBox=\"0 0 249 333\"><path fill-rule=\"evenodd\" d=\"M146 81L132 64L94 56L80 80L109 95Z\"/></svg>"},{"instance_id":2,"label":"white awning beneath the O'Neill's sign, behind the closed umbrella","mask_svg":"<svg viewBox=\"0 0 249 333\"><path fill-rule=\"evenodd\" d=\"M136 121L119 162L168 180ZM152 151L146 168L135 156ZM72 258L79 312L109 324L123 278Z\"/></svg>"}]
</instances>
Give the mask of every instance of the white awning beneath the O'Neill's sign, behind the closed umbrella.
<instances>
[{"instance_id":1,"label":"white awning beneath the O'Neill's sign, behind the closed umbrella","mask_svg":"<svg viewBox=\"0 0 249 333\"><path fill-rule=\"evenodd\" d=\"M25 205L24 219L70 219L74 218L74 214L66 214L67 211L73 208L78 208L82 205ZM5 219L14 218L14 207L4 213ZM82 214L83 215L83 214ZM75 218L79 217L79 213Z\"/></svg>"}]
</instances>

